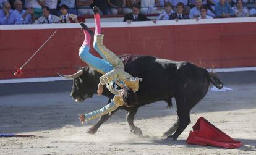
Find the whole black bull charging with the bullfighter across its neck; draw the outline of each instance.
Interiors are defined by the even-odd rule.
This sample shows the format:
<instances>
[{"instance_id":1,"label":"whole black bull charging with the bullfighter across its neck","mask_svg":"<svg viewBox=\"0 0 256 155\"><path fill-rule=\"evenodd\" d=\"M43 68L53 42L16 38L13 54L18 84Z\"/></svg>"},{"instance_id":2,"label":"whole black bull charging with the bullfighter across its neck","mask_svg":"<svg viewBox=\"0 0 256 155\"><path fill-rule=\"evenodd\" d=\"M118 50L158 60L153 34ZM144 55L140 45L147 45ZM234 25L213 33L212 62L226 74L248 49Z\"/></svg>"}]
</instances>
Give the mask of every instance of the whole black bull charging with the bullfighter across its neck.
<instances>
[{"instance_id":1,"label":"whole black bull charging with the bullfighter across its neck","mask_svg":"<svg viewBox=\"0 0 256 155\"><path fill-rule=\"evenodd\" d=\"M138 103L135 107L121 106L118 108L127 110L126 119L130 131L135 135L142 136L140 128L134 125L134 116L140 106L164 100L170 107L172 106L171 98L175 98L178 119L163 136L177 139L190 123L190 110L207 94L210 82L217 88L223 87L223 83L215 74L208 73L206 69L189 62L130 55L121 56L121 59L126 72L134 77L143 78L139 83L139 91L136 93ZM83 67L74 75L61 76L74 79L71 96L75 101L82 102L96 94L101 74L91 67ZM109 101L113 98L113 94L106 88L103 95L107 96ZM116 111L111 112L111 115ZM88 133L96 133L100 125L111 115L106 114L100 117Z\"/></svg>"}]
</instances>

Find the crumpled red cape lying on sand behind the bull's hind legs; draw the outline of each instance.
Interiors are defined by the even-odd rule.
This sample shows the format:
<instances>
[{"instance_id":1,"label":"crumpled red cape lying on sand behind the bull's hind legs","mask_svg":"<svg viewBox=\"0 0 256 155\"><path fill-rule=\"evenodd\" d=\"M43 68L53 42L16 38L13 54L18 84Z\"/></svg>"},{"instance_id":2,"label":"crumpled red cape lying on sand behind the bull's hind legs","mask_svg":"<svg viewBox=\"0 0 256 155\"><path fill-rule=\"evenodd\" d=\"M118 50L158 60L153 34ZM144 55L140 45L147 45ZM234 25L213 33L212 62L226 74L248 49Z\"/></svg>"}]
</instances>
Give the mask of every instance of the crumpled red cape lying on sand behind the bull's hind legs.
<instances>
[{"instance_id":1,"label":"crumpled red cape lying on sand behind the bull's hind legs","mask_svg":"<svg viewBox=\"0 0 256 155\"><path fill-rule=\"evenodd\" d=\"M242 146L240 141L235 141L203 117L200 117L193 126L193 132L190 131L187 143L190 145L210 145L228 149Z\"/></svg>"}]
</instances>

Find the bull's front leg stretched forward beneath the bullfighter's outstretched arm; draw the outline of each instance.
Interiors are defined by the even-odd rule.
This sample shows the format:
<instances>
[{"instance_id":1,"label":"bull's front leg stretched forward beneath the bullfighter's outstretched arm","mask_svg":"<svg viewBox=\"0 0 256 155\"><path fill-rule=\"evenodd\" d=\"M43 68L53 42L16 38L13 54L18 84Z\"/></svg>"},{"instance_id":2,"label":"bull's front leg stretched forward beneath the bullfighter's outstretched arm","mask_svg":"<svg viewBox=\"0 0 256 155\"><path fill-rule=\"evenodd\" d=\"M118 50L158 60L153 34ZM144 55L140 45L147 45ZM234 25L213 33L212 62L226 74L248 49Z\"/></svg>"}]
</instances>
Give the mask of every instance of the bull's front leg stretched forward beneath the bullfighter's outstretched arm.
<instances>
[{"instance_id":1,"label":"bull's front leg stretched forward beneath the bullfighter's outstretched arm","mask_svg":"<svg viewBox=\"0 0 256 155\"><path fill-rule=\"evenodd\" d=\"M109 99L109 102L108 102L108 103L110 103L110 99ZM119 109L119 108L118 108L118 109ZM89 128L89 130L87 131L87 133L90 133L90 134L92 134L92 135L95 134L95 133L97 132L97 130L100 128L100 126L101 126L104 122L106 122L116 111L118 111L118 109L112 111L112 112L110 113L110 115L109 115L109 114L102 115L102 116L100 117L100 119L98 119L98 121L96 122L96 124L94 124L92 127Z\"/></svg>"}]
</instances>

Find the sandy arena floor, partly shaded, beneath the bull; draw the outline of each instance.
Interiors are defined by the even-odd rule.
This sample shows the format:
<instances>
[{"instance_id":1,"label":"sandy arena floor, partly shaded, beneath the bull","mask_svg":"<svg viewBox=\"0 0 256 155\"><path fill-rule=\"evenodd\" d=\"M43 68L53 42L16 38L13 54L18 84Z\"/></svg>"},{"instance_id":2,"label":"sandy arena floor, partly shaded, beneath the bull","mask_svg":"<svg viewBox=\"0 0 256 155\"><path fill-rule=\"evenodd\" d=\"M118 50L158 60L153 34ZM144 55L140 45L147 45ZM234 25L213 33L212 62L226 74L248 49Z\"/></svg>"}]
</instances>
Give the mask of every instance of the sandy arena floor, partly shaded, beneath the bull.
<instances>
[{"instance_id":1,"label":"sandy arena floor, partly shaded, beneath the bull","mask_svg":"<svg viewBox=\"0 0 256 155\"><path fill-rule=\"evenodd\" d=\"M82 104L69 93L0 96L0 133L19 133L43 138L0 138L0 154L256 154L256 84L226 85L233 91L208 91L192 109L192 123L177 141L161 135L176 120L176 105L166 109L158 102L140 107L135 125L149 138L132 135L126 111L118 111L95 135L85 131L95 122L80 124L78 114L98 109L108 101L94 96ZM187 145L192 125L205 117L244 146L223 149Z\"/></svg>"}]
</instances>

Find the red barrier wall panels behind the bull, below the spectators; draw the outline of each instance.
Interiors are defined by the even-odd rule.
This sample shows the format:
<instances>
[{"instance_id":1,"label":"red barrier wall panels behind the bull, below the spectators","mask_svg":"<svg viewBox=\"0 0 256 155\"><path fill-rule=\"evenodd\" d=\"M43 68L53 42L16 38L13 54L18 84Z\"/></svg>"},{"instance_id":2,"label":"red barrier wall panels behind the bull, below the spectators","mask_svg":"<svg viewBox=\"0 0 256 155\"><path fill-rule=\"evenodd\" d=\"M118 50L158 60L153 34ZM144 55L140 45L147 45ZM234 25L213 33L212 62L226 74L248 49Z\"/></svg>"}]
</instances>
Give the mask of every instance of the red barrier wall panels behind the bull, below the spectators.
<instances>
[{"instance_id":1,"label":"red barrier wall panels behind the bull, below the spectators","mask_svg":"<svg viewBox=\"0 0 256 155\"><path fill-rule=\"evenodd\" d=\"M222 68L256 66L255 27L256 22L213 23L109 27L103 32L105 45L116 54L145 54ZM12 75L17 70L15 65L24 64L55 30L0 30L0 79L17 78ZM25 65L22 78L75 72L73 65L85 65L78 54L82 42L79 28L58 29Z\"/></svg>"}]
</instances>

